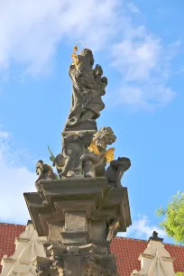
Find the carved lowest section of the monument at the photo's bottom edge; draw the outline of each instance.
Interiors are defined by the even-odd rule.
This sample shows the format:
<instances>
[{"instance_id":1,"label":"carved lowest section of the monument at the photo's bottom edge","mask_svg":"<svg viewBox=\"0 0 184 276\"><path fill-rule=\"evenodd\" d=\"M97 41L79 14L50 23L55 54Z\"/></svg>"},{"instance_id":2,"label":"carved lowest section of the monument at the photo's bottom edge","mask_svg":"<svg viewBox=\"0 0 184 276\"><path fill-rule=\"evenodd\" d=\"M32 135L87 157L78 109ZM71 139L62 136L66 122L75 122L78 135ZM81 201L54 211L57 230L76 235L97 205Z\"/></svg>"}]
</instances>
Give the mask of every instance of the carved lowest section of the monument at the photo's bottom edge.
<instances>
[{"instance_id":1,"label":"carved lowest section of the monument at the photo's bottom edge","mask_svg":"<svg viewBox=\"0 0 184 276\"><path fill-rule=\"evenodd\" d=\"M118 276L115 256L102 253L94 244L69 246L65 251L59 245L49 246L47 253L50 258L34 260L41 276Z\"/></svg>"}]
</instances>

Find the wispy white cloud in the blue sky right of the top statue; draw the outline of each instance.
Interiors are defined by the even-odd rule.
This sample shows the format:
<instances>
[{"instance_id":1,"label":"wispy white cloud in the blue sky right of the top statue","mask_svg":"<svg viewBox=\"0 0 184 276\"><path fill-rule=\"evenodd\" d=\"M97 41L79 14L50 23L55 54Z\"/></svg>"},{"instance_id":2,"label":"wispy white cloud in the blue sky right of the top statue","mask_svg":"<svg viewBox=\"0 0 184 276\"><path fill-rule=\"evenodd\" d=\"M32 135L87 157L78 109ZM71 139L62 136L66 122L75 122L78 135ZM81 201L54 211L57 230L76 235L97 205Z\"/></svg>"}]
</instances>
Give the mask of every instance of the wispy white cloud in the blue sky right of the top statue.
<instances>
[{"instance_id":1,"label":"wispy white cloud in the blue sky right of the top statue","mask_svg":"<svg viewBox=\"0 0 184 276\"><path fill-rule=\"evenodd\" d=\"M142 14L132 10L124 14L123 33L113 47L111 64L122 75L118 102L147 110L167 105L176 95L168 82L180 41L164 45L142 24Z\"/></svg>"}]
</instances>

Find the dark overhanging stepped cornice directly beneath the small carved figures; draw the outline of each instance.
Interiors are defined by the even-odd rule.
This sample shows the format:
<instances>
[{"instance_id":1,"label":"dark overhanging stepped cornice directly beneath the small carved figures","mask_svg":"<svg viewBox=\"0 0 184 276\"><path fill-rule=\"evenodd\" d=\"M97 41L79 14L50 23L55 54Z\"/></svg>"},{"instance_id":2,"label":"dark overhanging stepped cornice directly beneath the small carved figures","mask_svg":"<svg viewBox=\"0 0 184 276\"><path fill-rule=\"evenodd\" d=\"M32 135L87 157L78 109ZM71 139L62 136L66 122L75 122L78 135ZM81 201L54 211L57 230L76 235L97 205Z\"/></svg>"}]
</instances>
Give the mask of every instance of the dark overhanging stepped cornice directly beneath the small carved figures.
<instances>
[{"instance_id":1,"label":"dark overhanging stepped cornice directly beneath the small carved figures","mask_svg":"<svg viewBox=\"0 0 184 276\"><path fill-rule=\"evenodd\" d=\"M49 235L48 225L65 222L66 212L72 208L87 213L87 229L92 221L109 222L116 217L120 231L131 225L127 189L109 189L106 178L40 181L39 185L47 204L37 193L24 193L38 235Z\"/></svg>"}]
</instances>

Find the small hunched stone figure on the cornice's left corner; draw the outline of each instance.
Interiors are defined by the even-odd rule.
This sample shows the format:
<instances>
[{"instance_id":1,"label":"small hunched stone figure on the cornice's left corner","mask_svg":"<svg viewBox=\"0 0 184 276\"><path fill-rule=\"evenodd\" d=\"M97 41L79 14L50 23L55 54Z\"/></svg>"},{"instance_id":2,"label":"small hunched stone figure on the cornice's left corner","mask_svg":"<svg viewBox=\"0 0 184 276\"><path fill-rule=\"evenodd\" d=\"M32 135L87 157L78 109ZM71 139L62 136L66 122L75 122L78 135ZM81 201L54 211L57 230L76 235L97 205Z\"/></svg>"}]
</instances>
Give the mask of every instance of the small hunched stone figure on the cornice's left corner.
<instances>
[{"instance_id":1,"label":"small hunched stone figure on the cornice's left corner","mask_svg":"<svg viewBox=\"0 0 184 276\"><path fill-rule=\"evenodd\" d=\"M44 164L43 161L38 161L36 164L36 174L39 176L35 183L39 180L51 180L56 179L56 175L54 174L51 166L48 164Z\"/></svg>"}]
</instances>

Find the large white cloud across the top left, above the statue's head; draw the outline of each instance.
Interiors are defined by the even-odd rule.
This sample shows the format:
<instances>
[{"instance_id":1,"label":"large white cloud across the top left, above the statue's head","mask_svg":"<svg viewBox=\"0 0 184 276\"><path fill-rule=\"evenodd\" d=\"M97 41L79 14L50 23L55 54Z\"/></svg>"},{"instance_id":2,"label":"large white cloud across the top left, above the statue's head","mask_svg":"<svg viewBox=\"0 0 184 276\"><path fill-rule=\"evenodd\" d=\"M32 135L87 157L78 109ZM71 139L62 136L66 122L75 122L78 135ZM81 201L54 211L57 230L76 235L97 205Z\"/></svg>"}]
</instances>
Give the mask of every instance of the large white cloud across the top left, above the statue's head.
<instances>
[{"instance_id":1,"label":"large white cloud across the top left, above the statue's head","mask_svg":"<svg viewBox=\"0 0 184 276\"><path fill-rule=\"evenodd\" d=\"M117 5L118 0L1 1L0 68L15 60L38 73L60 40L82 40L99 49L115 32Z\"/></svg>"}]
</instances>

